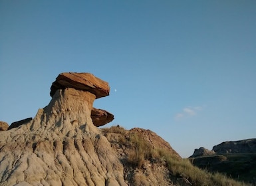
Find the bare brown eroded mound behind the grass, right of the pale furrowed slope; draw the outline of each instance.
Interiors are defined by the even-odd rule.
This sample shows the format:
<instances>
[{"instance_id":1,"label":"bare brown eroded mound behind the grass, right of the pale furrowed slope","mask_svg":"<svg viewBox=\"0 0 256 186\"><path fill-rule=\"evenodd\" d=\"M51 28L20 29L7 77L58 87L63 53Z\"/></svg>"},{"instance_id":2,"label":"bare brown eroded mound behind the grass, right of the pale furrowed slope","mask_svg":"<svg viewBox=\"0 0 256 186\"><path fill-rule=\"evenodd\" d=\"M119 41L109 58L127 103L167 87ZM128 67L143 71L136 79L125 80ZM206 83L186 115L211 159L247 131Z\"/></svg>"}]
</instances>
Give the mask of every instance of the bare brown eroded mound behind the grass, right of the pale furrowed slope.
<instances>
[{"instance_id":1,"label":"bare brown eroded mound behind the grass, right of the pale furrowed slope","mask_svg":"<svg viewBox=\"0 0 256 186\"><path fill-rule=\"evenodd\" d=\"M129 142L130 138L135 136L139 138L138 143L142 142L142 144L145 145L142 147L145 151L149 149L158 151L161 149L168 151L170 155L174 155L176 161L182 160L180 155L172 149L170 144L160 138L156 133L142 128L124 130L124 128L120 126L103 128L102 131L104 136L110 141L112 149L116 151L116 155L124 165L124 178L128 182L128 185L190 185L187 184L182 177L172 176L173 173L166 167L166 160L164 158L145 158L140 162L140 167L134 165L134 163L138 163L136 158L135 160L132 159L132 162L130 162L130 157L133 157L132 152L136 152L138 157L141 157L139 154L142 153L140 148L138 148L138 144L136 145Z\"/></svg>"}]
</instances>

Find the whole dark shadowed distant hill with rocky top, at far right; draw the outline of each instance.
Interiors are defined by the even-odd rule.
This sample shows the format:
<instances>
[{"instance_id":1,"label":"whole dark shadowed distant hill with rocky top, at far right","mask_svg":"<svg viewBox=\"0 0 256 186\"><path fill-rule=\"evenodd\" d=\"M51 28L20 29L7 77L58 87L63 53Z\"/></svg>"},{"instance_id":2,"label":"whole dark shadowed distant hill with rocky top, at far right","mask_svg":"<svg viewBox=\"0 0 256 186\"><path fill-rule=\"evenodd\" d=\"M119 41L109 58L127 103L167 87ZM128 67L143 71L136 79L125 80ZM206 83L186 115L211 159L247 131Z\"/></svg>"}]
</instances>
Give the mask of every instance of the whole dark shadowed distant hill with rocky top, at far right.
<instances>
[{"instance_id":1,"label":"whole dark shadowed distant hill with rocky top, at far right","mask_svg":"<svg viewBox=\"0 0 256 186\"><path fill-rule=\"evenodd\" d=\"M256 139L225 141L211 151L200 147L190 160L201 169L256 185Z\"/></svg>"}]
</instances>

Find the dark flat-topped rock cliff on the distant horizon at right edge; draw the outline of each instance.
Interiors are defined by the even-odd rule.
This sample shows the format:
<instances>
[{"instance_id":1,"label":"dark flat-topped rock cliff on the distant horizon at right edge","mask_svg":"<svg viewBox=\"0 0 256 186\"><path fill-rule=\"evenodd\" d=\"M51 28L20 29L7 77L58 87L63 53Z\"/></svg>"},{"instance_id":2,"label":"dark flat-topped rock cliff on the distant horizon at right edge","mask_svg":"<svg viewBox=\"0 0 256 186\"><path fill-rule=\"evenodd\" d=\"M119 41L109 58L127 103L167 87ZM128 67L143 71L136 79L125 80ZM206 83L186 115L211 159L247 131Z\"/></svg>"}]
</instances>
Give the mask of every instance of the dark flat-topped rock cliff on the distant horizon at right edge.
<instances>
[{"instance_id":1,"label":"dark flat-topped rock cliff on the distant horizon at right edge","mask_svg":"<svg viewBox=\"0 0 256 186\"><path fill-rule=\"evenodd\" d=\"M256 139L225 141L213 147L217 154L222 153L256 153Z\"/></svg>"}]
</instances>

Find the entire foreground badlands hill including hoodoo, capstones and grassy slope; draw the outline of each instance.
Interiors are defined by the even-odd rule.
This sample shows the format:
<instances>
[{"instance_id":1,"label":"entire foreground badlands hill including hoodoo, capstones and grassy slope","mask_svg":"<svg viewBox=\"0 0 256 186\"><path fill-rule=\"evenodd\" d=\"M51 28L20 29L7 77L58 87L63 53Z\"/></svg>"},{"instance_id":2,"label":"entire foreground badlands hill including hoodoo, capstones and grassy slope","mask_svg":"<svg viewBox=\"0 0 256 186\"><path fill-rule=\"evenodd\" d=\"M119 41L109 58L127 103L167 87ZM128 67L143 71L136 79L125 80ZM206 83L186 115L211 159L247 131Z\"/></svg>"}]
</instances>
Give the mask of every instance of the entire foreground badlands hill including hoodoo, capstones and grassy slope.
<instances>
[{"instance_id":1,"label":"entire foreground badlands hill including hoodoo, capstones and grassy slope","mask_svg":"<svg viewBox=\"0 0 256 186\"><path fill-rule=\"evenodd\" d=\"M62 73L35 118L2 122L1 185L244 185L194 167L150 130L98 128L114 119L92 107L109 91L92 74Z\"/></svg>"}]
</instances>

